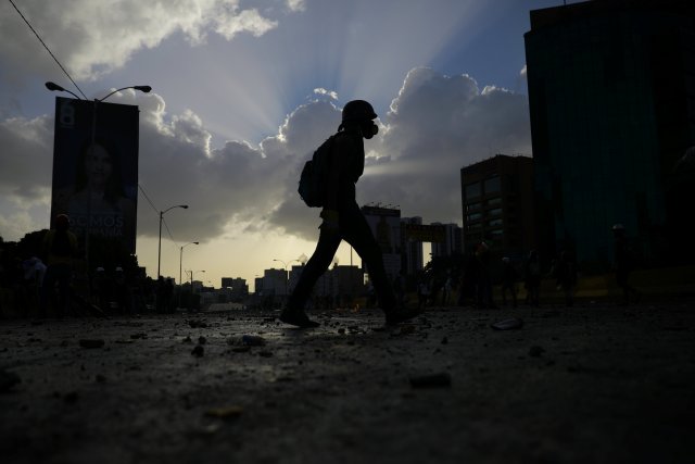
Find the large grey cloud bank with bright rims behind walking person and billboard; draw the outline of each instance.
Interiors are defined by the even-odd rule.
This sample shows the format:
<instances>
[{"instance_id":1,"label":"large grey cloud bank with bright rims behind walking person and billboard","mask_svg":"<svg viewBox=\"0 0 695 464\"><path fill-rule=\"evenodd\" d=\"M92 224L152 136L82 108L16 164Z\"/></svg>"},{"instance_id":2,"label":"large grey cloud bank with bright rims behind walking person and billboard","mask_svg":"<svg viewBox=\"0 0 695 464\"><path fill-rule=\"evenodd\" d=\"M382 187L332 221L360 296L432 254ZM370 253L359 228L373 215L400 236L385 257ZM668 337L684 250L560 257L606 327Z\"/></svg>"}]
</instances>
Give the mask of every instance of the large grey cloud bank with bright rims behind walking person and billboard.
<instances>
[{"instance_id":1,"label":"large grey cloud bank with bright rims behind walking person and billboard","mask_svg":"<svg viewBox=\"0 0 695 464\"><path fill-rule=\"evenodd\" d=\"M190 110L167 114L156 93L126 90L110 101L140 108L139 180L154 203L142 195L138 200L140 237L156 237L159 211L185 203L188 210L165 216L179 242L242 230L316 238L318 210L304 205L296 186L304 162L340 123L332 100L298 106L276 135L257 145L230 140L222 147L211 147L201 117ZM404 215L426 222L460 223L460 167L495 153L530 153L526 97L480 90L468 75L410 71L379 123L379 135L365 141L358 202L399 204ZM10 154L0 159L0 191L13 204L0 210L5 238L17 238L5 227L16 217L26 222L28 204L48 205L52 128L48 115L0 122L0 146Z\"/></svg>"}]
</instances>

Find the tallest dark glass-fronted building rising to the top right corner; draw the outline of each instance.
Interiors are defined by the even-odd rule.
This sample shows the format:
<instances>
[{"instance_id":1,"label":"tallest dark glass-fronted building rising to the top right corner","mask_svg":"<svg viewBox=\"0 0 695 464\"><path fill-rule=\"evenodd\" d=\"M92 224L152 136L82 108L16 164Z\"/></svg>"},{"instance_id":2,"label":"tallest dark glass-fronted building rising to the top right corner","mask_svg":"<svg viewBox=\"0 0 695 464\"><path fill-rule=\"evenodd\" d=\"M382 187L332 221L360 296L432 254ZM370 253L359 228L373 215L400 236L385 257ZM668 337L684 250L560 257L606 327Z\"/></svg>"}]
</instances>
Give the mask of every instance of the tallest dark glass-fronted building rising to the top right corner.
<instances>
[{"instance_id":1,"label":"tallest dark glass-fronted building rising to the top right corner","mask_svg":"<svg viewBox=\"0 0 695 464\"><path fill-rule=\"evenodd\" d=\"M584 269L605 268L616 223L647 261L672 255L669 224L692 215L669 186L695 146L695 2L535 10L525 39L545 259L572 246Z\"/></svg>"}]
</instances>

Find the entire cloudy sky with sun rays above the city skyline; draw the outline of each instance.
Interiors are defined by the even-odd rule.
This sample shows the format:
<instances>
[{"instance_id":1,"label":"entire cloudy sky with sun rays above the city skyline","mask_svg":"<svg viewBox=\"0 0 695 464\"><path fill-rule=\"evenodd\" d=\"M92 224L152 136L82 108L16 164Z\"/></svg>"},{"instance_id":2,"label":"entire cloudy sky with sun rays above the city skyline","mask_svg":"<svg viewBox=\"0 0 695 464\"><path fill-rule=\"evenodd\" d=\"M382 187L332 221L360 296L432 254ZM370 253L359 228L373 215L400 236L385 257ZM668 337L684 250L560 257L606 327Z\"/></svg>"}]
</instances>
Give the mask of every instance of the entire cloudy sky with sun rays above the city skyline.
<instances>
[{"instance_id":1,"label":"entire cloudy sky with sun rays above the city skyline","mask_svg":"<svg viewBox=\"0 0 695 464\"><path fill-rule=\"evenodd\" d=\"M304 162L350 100L372 103L359 204L462 224L459 171L531 155L523 34L551 0L14 0L88 99L140 109L137 256L219 287L311 256ZM55 81L80 93L0 2L0 237L47 228ZM142 195L147 193L148 199ZM199 241L200 244L187 243ZM349 264L350 248L338 252ZM278 261L275 261L278 260ZM280 262L283 262L280 264ZM353 262L359 264L356 255ZM202 273L201 271L205 271Z\"/></svg>"}]
</instances>

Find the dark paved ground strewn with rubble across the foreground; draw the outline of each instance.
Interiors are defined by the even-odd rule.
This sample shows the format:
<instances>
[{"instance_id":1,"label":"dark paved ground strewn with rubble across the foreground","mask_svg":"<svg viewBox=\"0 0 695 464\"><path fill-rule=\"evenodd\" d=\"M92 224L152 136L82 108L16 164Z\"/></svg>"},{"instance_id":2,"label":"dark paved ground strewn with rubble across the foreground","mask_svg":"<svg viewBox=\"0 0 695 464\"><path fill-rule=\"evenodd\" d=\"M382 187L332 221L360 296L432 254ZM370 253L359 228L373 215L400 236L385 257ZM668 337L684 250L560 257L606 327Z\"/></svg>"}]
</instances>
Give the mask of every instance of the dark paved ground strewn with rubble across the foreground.
<instances>
[{"instance_id":1,"label":"dark paved ground strewn with rubble across the foreground","mask_svg":"<svg viewBox=\"0 0 695 464\"><path fill-rule=\"evenodd\" d=\"M692 306L433 309L392 329L371 311L318 315L316 330L241 312L5 321L0 455L692 463ZM509 317L523 326L491 328Z\"/></svg>"}]
</instances>

